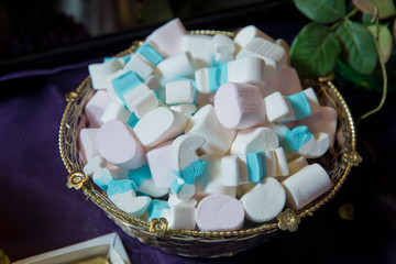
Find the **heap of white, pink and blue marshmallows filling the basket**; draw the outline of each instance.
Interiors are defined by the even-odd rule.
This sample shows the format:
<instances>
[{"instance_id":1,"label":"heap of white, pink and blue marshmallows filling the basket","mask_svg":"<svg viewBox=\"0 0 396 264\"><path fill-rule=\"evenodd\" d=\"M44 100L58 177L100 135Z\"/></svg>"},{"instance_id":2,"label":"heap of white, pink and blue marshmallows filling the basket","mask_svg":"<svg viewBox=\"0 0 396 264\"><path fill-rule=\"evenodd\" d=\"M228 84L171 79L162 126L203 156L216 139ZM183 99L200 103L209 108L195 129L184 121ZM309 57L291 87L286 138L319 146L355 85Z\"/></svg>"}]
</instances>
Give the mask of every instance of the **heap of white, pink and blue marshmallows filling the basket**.
<instances>
[{"instance_id":1,"label":"heap of white, pink and blue marshmallows filling the basket","mask_svg":"<svg viewBox=\"0 0 396 264\"><path fill-rule=\"evenodd\" d=\"M121 210L168 228L233 231L299 210L331 188L309 158L333 145L337 111L253 25L234 38L178 19L130 55L89 65L85 174Z\"/></svg>"}]
</instances>

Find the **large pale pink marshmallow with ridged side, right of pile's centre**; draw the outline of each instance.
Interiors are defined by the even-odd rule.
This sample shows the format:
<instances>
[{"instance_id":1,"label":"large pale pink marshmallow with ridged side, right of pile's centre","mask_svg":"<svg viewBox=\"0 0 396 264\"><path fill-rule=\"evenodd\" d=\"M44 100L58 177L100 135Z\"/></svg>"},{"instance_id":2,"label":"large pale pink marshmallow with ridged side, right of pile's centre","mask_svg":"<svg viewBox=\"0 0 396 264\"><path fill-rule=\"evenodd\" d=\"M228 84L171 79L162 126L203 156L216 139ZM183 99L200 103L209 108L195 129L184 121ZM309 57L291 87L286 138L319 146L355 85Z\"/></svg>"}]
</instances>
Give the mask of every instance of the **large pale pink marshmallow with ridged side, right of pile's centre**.
<instances>
[{"instance_id":1,"label":"large pale pink marshmallow with ridged side, right of pile's centre","mask_svg":"<svg viewBox=\"0 0 396 264\"><path fill-rule=\"evenodd\" d=\"M265 121L261 91L249 84L227 82L216 92L215 109L228 129L250 129Z\"/></svg>"}]
</instances>

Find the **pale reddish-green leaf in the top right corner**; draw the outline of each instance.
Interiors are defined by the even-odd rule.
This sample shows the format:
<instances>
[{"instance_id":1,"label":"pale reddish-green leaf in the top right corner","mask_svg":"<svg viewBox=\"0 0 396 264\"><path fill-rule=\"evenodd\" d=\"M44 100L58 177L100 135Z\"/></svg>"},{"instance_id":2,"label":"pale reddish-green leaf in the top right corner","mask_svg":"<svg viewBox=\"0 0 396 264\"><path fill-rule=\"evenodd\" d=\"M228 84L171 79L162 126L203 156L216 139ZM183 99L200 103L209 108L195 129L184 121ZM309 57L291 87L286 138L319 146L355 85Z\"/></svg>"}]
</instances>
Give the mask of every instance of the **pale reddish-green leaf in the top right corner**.
<instances>
[{"instance_id":1,"label":"pale reddish-green leaf in the top right corner","mask_svg":"<svg viewBox=\"0 0 396 264\"><path fill-rule=\"evenodd\" d=\"M377 7L380 19L386 19L396 14L393 0L353 0L352 2L360 11L371 15L375 13L374 7Z\"/></svg>"}]
</instances>

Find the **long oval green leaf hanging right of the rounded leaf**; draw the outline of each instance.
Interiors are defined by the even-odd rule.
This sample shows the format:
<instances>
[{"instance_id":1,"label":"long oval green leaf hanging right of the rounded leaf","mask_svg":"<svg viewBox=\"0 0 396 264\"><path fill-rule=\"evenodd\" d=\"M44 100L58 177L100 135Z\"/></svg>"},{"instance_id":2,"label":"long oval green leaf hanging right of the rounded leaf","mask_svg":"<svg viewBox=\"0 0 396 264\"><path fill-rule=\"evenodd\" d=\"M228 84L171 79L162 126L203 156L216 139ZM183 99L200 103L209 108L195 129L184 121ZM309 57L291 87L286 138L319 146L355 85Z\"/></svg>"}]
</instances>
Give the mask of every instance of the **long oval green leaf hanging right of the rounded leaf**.
<instances>
[{"instance_id":1,"label":"long oval green leaf hanging right of the rounded leaf","mask_svg":"<svg viewBox=\"0 0 396 264\"><path fill-rule=\"evenodd\" d=\"M342 58L356 72L372 74L377 65L378 55L370 31L361 23L345 20L336 33L343 46Z\"/></svg>"}]
</instances>

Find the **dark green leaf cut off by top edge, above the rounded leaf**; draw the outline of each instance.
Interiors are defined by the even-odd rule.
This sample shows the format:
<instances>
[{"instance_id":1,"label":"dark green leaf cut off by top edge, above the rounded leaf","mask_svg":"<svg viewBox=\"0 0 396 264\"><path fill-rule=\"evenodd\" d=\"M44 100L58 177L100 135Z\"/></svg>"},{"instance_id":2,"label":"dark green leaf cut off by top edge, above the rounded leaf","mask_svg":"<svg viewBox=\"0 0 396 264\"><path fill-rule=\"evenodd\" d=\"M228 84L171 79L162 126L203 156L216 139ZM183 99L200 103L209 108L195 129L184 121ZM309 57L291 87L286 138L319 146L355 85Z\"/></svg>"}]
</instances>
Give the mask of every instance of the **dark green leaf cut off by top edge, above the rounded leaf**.
<instances>
[{"instance_id":1,"label":"dark green leaf cut off by top edge, above the rounded leaf","mask_svg":"<svg viewBox=\"0 0 396 264\"><path fill-rule=\"evenodd\" d=\"M345 14L344 0L294 0L296 8L318 23L332 23Z\"/></svg>"}]
</instances>

